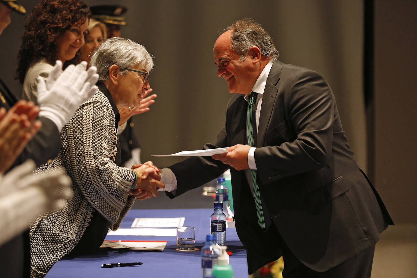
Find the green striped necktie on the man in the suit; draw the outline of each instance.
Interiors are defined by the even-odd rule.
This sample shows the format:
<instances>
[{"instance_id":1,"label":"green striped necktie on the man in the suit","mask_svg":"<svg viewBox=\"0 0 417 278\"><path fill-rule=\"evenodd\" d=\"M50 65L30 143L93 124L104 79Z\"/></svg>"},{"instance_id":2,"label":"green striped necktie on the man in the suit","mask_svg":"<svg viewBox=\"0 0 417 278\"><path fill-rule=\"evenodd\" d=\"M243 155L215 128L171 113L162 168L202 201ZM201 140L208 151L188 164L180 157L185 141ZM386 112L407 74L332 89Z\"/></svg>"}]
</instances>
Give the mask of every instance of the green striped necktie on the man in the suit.
<instances>
[{"instance_id":1,"label":"green striped necktie on the man in the suit","mask_svg":"<svg viewBox=\"0 0 417 278\"><path fill-rule=\"evenodd\" d=\"M249 143L249 146L251 147L255 147L253 119L252 119L252 104L256 103L257 96L258 96L257 93L252 92L249 95L249 99L248 99L248 114L246 116L246 132L248 133L248 143ZM261 194L259 193L259 187L258 187L258 184L256 183L256 170L251 169L251 176L252 176L252 187L254 189L256 213L258 215L258 224L264 231L266 231L265 221L264 221L264 212L262 211L262 205L261 205Z\"/></svg>"}]
</instances>

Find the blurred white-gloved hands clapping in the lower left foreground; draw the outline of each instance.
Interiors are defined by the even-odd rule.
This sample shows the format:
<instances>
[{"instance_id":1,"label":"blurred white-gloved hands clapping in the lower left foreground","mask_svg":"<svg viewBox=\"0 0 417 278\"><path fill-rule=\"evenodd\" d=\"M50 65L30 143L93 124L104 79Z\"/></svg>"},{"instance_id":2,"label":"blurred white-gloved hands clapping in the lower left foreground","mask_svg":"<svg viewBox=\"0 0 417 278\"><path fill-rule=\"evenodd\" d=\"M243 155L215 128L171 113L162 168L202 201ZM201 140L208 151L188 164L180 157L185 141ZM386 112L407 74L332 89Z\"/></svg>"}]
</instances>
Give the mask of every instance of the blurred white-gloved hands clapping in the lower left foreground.
<instances>
[{"instance_id":1,"label":"blurred white-gloved hands clapping in the lower left foreground","mask_svg":"<svg viewBox=\"0 0 417 278\"><path fill-rule=\"evenodd\" d=\"M29 227L45 211L62 208L72 196L71 179L61 169L33 175L35 163L27 160L0 175L0 188L14 190L0 193L0 245Z\"/></svg>"}]
</instances>

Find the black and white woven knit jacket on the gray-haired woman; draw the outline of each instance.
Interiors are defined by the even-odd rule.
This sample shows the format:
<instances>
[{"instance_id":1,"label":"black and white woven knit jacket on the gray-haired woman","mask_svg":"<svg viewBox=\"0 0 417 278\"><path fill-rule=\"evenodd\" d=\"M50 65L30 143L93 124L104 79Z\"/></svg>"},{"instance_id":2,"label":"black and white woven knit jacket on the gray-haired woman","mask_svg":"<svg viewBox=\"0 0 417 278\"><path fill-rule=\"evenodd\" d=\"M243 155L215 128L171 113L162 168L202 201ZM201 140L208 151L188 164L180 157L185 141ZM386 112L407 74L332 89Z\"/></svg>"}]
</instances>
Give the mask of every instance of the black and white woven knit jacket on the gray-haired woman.
<instances>
[{"instance_id":1,"label":"black and white woven knit jacket on the gray-haired woman","mask_svg":"<svg viewBox=\"0 0 417 278\"><path fill-rule=\"evenodd\" d=\"M81 104L61 133L58 157L36 174L63 166L72 179L73 196L64 208L37 218L30 226L31 277L43 277L67 255L85 232L94 210L117 230L134 202L128 195L133 170L114 163L117 150L115 115L100 90Z\"/></svg>"}]
</instances>

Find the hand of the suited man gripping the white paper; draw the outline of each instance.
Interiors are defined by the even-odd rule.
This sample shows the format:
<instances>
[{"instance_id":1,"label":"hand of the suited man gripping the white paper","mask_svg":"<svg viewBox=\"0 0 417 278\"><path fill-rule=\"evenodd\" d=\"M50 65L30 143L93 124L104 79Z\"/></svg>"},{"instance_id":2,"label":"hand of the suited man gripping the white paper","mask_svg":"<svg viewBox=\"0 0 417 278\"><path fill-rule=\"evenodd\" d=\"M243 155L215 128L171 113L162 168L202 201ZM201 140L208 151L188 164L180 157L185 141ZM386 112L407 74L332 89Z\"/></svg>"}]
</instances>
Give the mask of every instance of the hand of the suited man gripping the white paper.
<instances>
[{"instance_id":1,"label":"hand of the suited man gripping the white paper","mask_svg":"<svg viewBox=\"0 0 417 278\"><path fill-rule=\"evenodd\" d=\"M230 165L236 170L249 169L248 154L251 146L249 145L234 145L226 149L227 153L220 153L212 155L215 160L221 160L224 164Z\"/></svg>"}]
</instances>

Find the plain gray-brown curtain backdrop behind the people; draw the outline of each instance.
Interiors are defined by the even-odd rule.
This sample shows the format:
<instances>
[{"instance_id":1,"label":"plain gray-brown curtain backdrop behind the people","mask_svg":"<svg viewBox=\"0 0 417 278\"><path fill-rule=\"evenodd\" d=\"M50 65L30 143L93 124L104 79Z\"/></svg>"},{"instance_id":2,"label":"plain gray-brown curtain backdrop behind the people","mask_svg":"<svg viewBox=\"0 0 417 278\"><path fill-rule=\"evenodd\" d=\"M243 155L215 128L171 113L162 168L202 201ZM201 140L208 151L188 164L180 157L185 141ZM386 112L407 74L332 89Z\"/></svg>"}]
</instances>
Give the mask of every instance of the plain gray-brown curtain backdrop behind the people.
<instances>
[{"instance_id":1,"label":"plain gray-brown curtain backdrop behind the people","mask_svg":"<svg viewBox=\"0 0 417 278\"><path fill-rule=\"evenodd\" d=\"M20 0L28 13L39 1ZM216 76L213 45L227 25L244 17L261 23L274 39L284 63L311 68L324 76L358 164L367 169L389 212L398 223L417 223L416 205L416 18L415 0L375 0L371 71L364 72L362 0L163 1L89 0L88 5L118 3L128 8L122 36L154 55L151 87L158 94L151 111L134 117L142 160L159 167L179 161L154 154L200 149L224 125L227 85ZM16 56L23 17L0 37L0 75L16 95ZM369 30L368 30L369 31ZM364 75L373 85L364 103ZM370 154L370 155L369 155ZM198 190L198 192L197 192ZM137 202L138 207L211 205L198 199L201 189L180 200L165 196ZM201 197L208 198L208 197ZM161 200L160 200L161 199ZM162 201L163 199L163 201ZM179 198L178 198L179 199ZM160 200L160 201L159 201ZM166 202L165 202L166 201ZM176 203L175 203L176 202Z\"/></svg>"}]
</instances>

